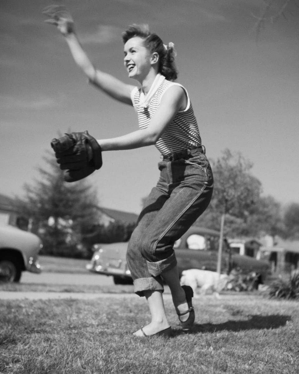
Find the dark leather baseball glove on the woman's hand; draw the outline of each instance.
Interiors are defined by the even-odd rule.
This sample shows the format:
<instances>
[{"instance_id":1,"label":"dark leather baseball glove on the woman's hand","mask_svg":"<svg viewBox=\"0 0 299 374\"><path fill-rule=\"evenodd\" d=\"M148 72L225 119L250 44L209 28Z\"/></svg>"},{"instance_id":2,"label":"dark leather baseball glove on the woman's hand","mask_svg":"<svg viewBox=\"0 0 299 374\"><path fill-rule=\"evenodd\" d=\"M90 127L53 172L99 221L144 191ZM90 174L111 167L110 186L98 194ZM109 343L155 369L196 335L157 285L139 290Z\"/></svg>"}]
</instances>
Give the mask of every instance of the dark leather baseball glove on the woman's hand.
<instances>
[{"instance_id":1,"label":"dark leather baseball glove on the woman's hand","mask_svg":"<svg viewBox=\"0 0 299 374\"><path fill-rule=\"evenodd\" d=\"M72 132L53 139L51 147L60 168L65 170L64 180L75 182L92 174L102 166L102 151L88 131Z\"/></svg>"}]
</instances>

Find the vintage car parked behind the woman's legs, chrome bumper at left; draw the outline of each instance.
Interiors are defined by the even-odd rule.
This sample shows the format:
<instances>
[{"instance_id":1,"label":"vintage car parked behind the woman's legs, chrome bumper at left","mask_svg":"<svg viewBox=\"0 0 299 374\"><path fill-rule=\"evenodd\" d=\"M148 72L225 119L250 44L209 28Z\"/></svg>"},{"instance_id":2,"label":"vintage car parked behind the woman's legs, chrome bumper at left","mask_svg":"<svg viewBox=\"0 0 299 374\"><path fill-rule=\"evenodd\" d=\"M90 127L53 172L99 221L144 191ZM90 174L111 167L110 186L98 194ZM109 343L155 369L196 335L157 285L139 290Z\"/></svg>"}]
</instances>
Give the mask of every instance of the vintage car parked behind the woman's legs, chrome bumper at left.
<instances>
[{"instance_id":1,"label":"vintage car parked behind the woman's legs, chrome bumper at left","mask_svg":"<svg viewBox=\"0 0 299 374\"><path fill-rule=\"evenodd\" d=\"M187 269L217 270L218 231L192 226L175 242L179 274ZM93 256L87 270L99 274L112 275L115 284L132 283L126 262L127 243L95 244ZM258 283L265 281L270 272L269 263L246 255L231 254L227 240L223 242L221 271L236 269L243 274L256 273Z\"/></svg>"}]
</instances>

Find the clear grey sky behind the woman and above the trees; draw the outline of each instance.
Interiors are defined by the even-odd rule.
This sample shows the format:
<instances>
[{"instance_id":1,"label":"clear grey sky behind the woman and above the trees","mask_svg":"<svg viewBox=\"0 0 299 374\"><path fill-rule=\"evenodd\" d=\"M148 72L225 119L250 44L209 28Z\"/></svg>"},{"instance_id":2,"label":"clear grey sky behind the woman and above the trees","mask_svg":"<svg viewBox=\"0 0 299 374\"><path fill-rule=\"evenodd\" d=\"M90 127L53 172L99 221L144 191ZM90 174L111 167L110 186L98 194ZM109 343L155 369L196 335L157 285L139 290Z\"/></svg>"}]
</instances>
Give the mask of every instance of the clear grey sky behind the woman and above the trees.
<instances>
[{"instance_id":1,"label":"clear grey sky behind the woman and above the trees","mask_svg":"<svg viewBox=\"0 0 299 374\"><path fill-rule=\"evenodd\" d=\"M55 3L55 2L54 2ZM60 2L61 3L61 2ZM277 6L282 1L277 2ZM111 138L138 129L135 111L87 84L64 38L44 23L49 0L0 1L0 193L22 196L59 134ZM263 196L299 203L299 9L267 22L262 0L65 0L93 64L126 83L121 32L148 24L173 42L209 159L225 148L253 163ZM276 4L276 3L275 3ZM274 11L274 10L273 10ZM99 205L138 213L156 184L154 146L103 153L86 179Z\"/></svg>"}]
</instances>

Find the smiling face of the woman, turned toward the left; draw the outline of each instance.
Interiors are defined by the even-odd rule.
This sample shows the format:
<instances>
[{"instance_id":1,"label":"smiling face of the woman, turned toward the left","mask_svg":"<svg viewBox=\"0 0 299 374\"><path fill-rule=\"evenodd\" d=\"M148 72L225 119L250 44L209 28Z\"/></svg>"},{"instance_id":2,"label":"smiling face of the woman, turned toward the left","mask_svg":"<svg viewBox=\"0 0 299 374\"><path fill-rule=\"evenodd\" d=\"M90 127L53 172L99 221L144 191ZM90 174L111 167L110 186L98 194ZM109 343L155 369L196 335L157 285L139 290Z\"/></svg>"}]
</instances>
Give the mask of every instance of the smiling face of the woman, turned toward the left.
<instances>
[{"instance_id":1,"label":"smiling face of the woman, turned toward the left","mask_svg":"<svg viewBox=\"0 0 299 374\"><path fill-rule=\"evenodd\" d=\"M130 78L141 82L152 66L152 54L144 46L143 39L135 36L124 45L124 66Z\"/></svg>"}]
</instances>

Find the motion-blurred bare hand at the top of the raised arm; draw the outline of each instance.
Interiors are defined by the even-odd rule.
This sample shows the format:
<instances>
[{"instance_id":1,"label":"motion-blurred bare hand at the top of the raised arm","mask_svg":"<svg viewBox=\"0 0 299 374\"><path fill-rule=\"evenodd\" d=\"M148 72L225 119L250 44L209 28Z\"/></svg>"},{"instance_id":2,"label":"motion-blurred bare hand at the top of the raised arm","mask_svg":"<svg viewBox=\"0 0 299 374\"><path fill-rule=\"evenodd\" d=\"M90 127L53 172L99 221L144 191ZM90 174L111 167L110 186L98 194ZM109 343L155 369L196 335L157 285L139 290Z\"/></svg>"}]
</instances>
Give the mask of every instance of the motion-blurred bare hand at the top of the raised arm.
<instances>
[{"instance_id":1,"label":"motion-blurred bare hand at the top of the raised arm","mask_svg":"<svg viewBox=\"0 0 299 374\"><path fill-rule=\"evenodd\" d=\"M50 5L43 9L43 14L50 17L44 22L57 26L62 35L74 32L74 21L71 13L64 5Z\"/></svg>"}]
</instances>

